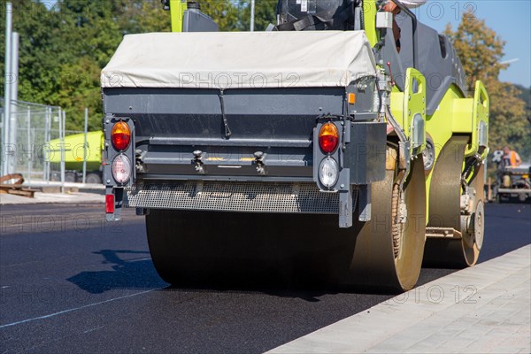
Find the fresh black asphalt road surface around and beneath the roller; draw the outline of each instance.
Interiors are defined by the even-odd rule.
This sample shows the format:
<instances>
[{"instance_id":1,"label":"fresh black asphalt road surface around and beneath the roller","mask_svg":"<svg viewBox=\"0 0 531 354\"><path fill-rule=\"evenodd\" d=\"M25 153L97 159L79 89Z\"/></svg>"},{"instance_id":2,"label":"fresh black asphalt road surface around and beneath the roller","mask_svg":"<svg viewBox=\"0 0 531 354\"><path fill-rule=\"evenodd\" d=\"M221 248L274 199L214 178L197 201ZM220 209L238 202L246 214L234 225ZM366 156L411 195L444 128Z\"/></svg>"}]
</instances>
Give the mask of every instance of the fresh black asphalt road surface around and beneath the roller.
<instances>
[{"instance_id":1,"label":"fresh black asphalt road surface around and beneath the roller","mask_svg":"<svg viewBox=\"0 0 531 354\"><path fill-rule=\"evenodd\" d=\"M258 353L392 294L341 289L176 289L151 263L142 217L103 205L3 205L0 353ZM531 242L531 204L488 204L480 261ZM423 269L419 284L453 272Z\"/></svg>"}]
</instances>

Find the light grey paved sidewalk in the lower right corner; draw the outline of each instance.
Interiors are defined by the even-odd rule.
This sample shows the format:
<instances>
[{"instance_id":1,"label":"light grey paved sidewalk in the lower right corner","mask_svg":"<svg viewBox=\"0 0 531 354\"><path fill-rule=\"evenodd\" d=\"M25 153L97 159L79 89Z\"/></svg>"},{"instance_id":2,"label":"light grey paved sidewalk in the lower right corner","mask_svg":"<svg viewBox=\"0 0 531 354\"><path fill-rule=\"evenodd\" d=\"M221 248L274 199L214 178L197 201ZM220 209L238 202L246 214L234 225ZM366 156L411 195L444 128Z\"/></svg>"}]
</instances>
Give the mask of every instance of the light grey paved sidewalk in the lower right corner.
<instances>
[{"instance_id":1,"label":"light grey paved sidewalk in the lower right corner","mask_svg":"<svg viewBox=\"0 0 531 354\"><path fill-rule=\"evenodd\" d=\"M531 245L269 353L530 353Z\"/></svg>"}]
</instances>

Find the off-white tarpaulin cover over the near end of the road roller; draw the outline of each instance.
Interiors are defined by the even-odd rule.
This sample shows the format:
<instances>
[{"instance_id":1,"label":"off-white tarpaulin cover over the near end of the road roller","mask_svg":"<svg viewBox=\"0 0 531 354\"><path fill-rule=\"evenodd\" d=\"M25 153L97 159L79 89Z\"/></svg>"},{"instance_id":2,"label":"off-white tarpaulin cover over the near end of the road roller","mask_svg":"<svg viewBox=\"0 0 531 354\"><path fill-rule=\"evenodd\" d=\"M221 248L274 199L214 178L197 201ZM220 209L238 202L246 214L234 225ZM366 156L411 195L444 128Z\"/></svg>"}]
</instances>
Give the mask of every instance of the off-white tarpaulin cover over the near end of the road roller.
<instances>
[{"instance_id":1,"label":"off-white tarpaulin cover over the near end of the road roller","mask_svg":"<svg viewBox=\"0 0 531 354\"><path fill-rule=\"evenodd\" d=\"M345 87L374 76L364 31L126 35L103 88Z\"/></svg>"}]
</instances>

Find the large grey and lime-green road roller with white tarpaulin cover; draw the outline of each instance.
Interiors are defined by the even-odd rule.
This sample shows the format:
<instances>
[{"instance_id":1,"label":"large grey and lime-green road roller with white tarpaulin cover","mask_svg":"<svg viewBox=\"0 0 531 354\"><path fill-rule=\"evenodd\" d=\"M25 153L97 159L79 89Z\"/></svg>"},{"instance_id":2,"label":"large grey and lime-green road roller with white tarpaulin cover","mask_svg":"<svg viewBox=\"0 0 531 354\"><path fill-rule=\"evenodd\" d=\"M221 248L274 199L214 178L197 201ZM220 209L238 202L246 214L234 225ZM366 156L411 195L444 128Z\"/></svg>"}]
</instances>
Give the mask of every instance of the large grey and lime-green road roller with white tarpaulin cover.
<instances>
[{"instance_id":1,"label":"large grey and lime-green road roller with white tarpaulin cover","mask_svg":"<svg viewBox=\"0 0 531 354\"><path fill-rule=\"evenodd\" d=\"M127 35L102 73L107 219L146 215L171 283L227 273L412 289L483 242L489 96L404 5L281 0L276 31ZM306 3L305 3L306 4ZM196 20L196 22L195 22ZM434 76L441 84L434 87Z\"/></svg>"}]
</instances>

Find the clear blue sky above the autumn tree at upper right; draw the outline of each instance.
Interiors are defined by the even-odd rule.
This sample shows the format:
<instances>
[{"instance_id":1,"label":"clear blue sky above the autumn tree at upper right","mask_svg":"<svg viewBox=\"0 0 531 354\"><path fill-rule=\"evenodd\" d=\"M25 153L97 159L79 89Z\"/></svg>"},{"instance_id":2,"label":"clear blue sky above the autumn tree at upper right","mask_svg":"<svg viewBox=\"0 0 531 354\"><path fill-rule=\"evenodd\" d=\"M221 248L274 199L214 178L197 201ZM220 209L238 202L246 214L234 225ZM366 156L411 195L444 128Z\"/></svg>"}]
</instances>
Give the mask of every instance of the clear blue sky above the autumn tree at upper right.
<instances>
[{"instance_id":1,"label":"clear blue sky above the autumn tree at upper right","mask_svg":"<svg viewBox=\"0 0 531 354\"><path fill-rule=\"evenodd\" d=\"M55 4L55 1L45 3ZM449 22L455 30L466 9L472 9L477 18L485 19L486 25L506 42L504 60L511 60L512 64L500 73L500 80L530 87L531 0L428 0L415 13L427 26L443 31Z\"/></svg>"}]
</instances>

